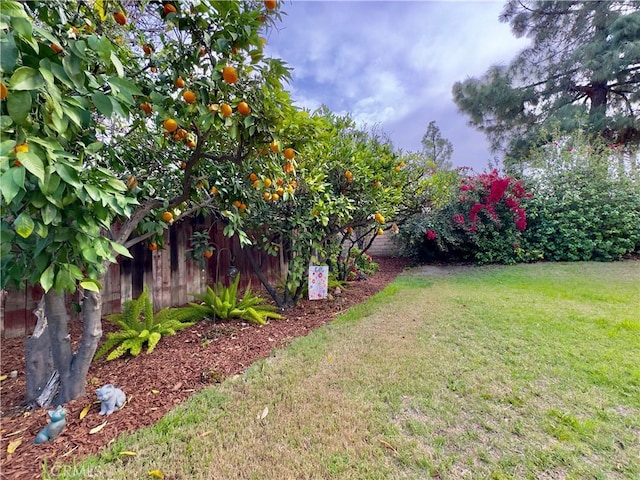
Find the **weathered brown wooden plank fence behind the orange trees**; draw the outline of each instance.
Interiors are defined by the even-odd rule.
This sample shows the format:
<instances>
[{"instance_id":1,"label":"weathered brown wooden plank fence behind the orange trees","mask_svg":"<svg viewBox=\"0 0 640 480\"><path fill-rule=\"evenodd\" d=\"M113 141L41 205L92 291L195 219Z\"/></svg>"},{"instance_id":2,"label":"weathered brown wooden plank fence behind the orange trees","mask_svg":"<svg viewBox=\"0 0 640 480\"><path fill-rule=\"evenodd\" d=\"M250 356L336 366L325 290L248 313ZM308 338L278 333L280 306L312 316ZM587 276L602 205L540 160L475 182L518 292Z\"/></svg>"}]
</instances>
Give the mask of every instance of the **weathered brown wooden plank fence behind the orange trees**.
<instances>
[{"instance_id":1,"label":"weathered brown wooden plank fence behind the orange trees","mask_svg":"<svg viewBox=\"0 0 640 480\"><path fill-rule=\"evenodd\" d=\"M192 300L191 293L201 292L206 285L215 281L229 282L227 272L235 266L241 277L241 284L251 281L260 282L254 276L237 239L222 235L223 225L212 224L208 219L188 219L181 221L165 231L163 249L150 251L145 244L131 249L133 259L121 257L119 263L109 267L102 289L102 313L119 312L122 302L137 298L144 285L149 286L153 305L156 310L184 305ZM210 239L216 246L214 255L206 261L205 268L191 258L190 239L194 230L210 229ZM281 262L277 257L258 256L263 271L270 279L277 278L281 271ZM42 296L39 287L25 285L21 290L2 291L0 307L0 333L3 338L29 335L35 326L33 310ZM67 303L71 307L78 302L76 295L68 295ZM68 311L73 312L73 308ZM72 320L78 318L72 314Z\"/></svg>"}]
</instances>

